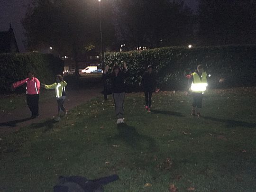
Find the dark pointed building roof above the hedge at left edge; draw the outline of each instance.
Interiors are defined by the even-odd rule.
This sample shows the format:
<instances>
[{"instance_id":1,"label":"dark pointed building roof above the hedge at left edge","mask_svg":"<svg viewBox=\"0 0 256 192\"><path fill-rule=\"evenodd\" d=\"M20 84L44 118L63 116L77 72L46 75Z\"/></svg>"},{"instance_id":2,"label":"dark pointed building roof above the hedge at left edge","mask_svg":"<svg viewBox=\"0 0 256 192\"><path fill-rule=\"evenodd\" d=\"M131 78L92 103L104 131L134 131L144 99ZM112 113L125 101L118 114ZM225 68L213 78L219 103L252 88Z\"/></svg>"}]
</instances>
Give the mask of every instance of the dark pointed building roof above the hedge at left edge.
<instances>
[{"instance_id":1,"label":"dark pointed building roof above the hedge at left edge","mask_svg":"<svg viewBox=\"0 0 256 192\"><path fill-rule=\"evenodd\" d=\"M18 45L10 25L9 31L0 31L0 53L18 53Z\"/></svg>"}]
</instances>

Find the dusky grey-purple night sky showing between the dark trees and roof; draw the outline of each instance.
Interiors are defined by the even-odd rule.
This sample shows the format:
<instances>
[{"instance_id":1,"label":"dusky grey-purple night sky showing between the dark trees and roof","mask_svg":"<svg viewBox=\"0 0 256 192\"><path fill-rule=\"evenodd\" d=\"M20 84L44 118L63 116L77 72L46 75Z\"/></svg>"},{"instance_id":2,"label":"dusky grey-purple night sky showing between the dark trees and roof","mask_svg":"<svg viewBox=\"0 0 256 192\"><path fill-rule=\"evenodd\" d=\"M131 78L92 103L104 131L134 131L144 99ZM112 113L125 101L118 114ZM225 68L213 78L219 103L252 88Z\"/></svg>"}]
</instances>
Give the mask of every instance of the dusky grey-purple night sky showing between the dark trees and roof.
<instances>
[{"instance_id":1,"label":"dusky grey-purple night sky showing between the dark trees and roof","mask_svg":"<svg viewBox=\"0 0 256 192\"><path fill-rule=\"evenodd\" d=\"M193 10L196 10L197 0L183 1ZM32 0L0 0L0 31L7 31L9 23L11 23L21 52L25 51L25 47L23 45L24 29L20 21L26 13L26 5L31 2Z\"/></svg>"}]
</instances>

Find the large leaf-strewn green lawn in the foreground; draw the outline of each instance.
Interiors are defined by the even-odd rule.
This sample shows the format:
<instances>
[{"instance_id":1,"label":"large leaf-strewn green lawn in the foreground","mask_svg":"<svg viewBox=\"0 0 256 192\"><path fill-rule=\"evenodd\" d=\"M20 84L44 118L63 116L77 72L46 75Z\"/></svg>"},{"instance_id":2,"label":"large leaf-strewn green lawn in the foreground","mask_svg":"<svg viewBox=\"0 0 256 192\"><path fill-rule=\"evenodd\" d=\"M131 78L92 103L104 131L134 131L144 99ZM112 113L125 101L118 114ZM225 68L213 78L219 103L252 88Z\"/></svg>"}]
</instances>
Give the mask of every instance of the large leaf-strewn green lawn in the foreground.
<instances>
[{"instance_id":1,"label":"large leaf-strewn green lawn in the foreground","mask_svg":"<svg viewBox=\"0 0 256 192\"><path fill-rule=\"evenodd\" d=\"M119 127L113 101L94 99L59 123L1 137L0 191L50 192L59 175L119 174L106 191L255 192L255 96L253 88L209 91L197 119L184 92L153 94L151 113L143 94L131 93Z\"/></svg>"}]
</instances>

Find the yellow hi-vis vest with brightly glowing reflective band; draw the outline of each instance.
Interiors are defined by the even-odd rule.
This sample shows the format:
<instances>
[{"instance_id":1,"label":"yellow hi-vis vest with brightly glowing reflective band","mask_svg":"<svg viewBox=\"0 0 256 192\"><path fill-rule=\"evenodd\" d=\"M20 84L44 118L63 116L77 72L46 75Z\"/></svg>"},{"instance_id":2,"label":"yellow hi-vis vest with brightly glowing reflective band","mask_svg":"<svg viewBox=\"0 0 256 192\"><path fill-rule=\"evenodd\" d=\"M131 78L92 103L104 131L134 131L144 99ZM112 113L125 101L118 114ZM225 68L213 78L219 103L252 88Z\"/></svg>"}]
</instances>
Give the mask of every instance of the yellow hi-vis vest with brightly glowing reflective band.
<instances>
[{"instance_id":1,"label":"yellow hi-vis vest with brightly glowing reflective band","mask_svg":"<svg viewBox=\"0 0 256 192\"><path fill-rule=\"evenodd\" d=\"M208 86L207 83L207 73L203 72L201 75L201 79L197 73L192 73L193 76L193 82L191 84L191 91L192 92L204 92L206 91L206 88Z\"/></svg>"}]
</instances>

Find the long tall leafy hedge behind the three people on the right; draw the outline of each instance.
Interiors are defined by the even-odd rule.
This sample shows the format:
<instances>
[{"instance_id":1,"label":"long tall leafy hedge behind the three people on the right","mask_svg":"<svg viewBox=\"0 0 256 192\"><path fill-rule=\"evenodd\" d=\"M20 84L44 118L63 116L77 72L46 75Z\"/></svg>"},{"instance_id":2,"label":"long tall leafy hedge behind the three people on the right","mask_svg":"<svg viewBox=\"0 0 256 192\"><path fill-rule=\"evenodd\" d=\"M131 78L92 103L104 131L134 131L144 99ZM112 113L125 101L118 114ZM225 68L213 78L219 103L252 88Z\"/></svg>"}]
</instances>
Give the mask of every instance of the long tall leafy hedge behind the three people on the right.
<instances>
[{"instance_id":1,"label":"long tall leafy hedge behind the three people on the right","mask_svg":"<svg viewBox=\"0 0 256 192\"><path fill-rule=\"evenodd\" d=\"M251 86L256 83L256 45L209 46L209 47L164 47L145 51L117 52L106 54L106 64L113 66L126 61L130 76L128 84L137 86L146 66L151 64L158 74L158 84L164 89L184 89L187 80L184 73L193 72L203 64L210 86Z\"/></svg>"}]
</instances>

